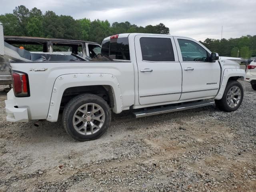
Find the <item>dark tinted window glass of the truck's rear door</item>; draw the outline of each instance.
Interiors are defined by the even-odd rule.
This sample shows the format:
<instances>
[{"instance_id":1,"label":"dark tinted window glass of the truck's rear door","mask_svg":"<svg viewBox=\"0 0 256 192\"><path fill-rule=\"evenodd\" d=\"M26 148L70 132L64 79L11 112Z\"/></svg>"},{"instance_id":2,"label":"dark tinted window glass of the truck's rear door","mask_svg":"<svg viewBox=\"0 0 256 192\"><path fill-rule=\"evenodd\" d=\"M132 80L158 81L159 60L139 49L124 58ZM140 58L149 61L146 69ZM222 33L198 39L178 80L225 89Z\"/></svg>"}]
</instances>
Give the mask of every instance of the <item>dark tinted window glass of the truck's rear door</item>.
<instances>
[{"instance_id":1,"label":"dark tinted window glass of the truck's rear door","mask_svg":"<svg viewBox=\"0 0 256 192\"><path fill-rule=\"evenodd\" d=\"M140 38L142 60L174 61L174 53L170 38Z\"/></svg>"}]
</instances>

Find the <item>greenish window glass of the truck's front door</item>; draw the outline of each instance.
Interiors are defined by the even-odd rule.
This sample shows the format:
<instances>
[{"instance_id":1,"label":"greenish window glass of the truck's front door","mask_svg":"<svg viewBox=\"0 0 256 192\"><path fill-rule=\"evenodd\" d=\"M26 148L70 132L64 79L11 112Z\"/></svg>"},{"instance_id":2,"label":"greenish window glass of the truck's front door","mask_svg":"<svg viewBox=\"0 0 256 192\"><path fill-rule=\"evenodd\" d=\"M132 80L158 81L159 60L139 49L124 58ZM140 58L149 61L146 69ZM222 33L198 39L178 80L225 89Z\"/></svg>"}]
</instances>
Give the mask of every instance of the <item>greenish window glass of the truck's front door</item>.
<instances>
[{"instance_id":1,"label":"greenish window glass of the truck's front door","mask_svg":"<svg viewBox=\"0 0 256 192\"><path fill-rule=\"evenodd\" d=\"M196 42L178 39L183 61L208 61L208 54Z\"/></svg>"}]
</instances>

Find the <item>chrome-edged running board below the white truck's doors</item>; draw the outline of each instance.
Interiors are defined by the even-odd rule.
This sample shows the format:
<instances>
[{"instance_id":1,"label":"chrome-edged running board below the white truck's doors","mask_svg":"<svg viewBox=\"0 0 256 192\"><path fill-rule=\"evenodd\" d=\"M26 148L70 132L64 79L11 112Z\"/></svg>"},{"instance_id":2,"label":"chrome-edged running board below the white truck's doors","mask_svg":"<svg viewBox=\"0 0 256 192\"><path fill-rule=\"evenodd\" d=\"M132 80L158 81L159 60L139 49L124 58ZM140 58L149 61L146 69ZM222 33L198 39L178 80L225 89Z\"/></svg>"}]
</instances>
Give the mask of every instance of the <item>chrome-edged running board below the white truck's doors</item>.
<instances>
[{"instance_id":1,"label":"chrome-edged running board below the white truck's doors","mask_svg":"<svg viewBox=\"0 0 256 192\"><path fill-rule=\"evenodd\" d=\"M140 118L140 117L146 117L151 115L158 115L158 114L182 111L182 110L193 109L198 107L204 107L204 106L209 106L214 104L215 104L214 101L190 102L190 103L180 104L178 106L166 106L166 107L161 107L156 109L142 110L139 112L134 112L133 114L135 115L136 118Z\"/></svg>"}]
</instances>

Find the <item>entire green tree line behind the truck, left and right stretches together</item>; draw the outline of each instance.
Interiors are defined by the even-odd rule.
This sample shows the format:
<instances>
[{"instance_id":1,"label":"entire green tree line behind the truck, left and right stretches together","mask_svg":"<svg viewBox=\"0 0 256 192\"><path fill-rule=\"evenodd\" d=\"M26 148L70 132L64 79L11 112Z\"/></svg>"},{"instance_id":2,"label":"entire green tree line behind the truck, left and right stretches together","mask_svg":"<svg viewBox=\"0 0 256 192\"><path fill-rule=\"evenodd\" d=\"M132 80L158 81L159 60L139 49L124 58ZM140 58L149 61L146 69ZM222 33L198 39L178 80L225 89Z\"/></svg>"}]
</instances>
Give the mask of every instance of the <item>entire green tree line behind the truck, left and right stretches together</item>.
<instances>
[{"instance_id":1,"label":"entire green tree line behind the truck, left and right stretches together","mask_svg":"<svg viewBox=\"0 0 256 192\"><path fill-rule=\"evenodd\" d=\"M170 34L169 28L162 23L142 27L128 21L110 24L108 20L92 21L89 18L76 20L72 16L56 15L53 11L46 11L43 14L36 7L29 10L23 5L15 7L13 13L0 15L0 22L4 26L4 35L85 40L100 44L105 37L113 34L136 32ZM218 52L220 56L242 58L256 56L256 35L221 40L206 38L201 43L212 52Z\"/></svg>"}]
</instances>

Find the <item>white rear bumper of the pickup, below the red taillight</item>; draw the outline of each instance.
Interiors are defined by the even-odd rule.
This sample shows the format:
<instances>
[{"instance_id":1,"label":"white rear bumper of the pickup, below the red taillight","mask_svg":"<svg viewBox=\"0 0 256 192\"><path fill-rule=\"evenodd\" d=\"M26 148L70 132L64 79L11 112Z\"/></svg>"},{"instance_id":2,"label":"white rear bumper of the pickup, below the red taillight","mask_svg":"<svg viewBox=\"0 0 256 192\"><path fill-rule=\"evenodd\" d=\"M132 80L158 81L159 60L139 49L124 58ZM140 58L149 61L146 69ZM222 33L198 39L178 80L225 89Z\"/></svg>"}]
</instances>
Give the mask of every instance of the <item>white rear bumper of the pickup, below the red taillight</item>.
<instances>
[{"instance_id":1,"label":"white rear bumper of the pickup, below the red taillight","mask_svg":"<svg viewBox=\"0 0 256 192\"><path fill-rule=\"evenodd\" d=\"M5 100L6 120L10 122L28 122L28 109L15 108L14 106L17 106L17 104L14 99L13 89L11 89L7 93L7 100Z\"/></svg>"}]
</instances>

